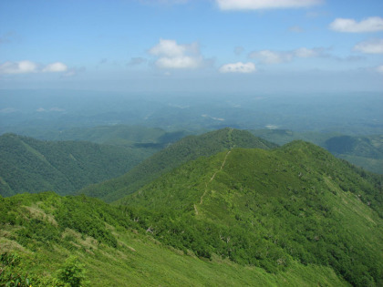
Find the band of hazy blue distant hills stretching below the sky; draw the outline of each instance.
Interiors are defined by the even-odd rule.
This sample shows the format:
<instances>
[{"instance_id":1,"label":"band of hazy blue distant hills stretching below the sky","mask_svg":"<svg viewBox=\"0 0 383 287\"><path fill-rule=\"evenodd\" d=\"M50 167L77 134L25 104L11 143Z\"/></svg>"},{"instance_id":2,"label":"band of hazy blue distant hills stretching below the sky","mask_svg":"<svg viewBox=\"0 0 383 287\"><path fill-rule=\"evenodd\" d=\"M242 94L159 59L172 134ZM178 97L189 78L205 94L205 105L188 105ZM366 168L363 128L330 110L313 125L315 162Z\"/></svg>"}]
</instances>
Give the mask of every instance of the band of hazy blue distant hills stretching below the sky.
<instances>
[{"instance_id":1,"label":"band of hazy blue distant hills stretching below the sky","mask_svg":"<svg viewBox=\"0 0 383 287\"><path fill-rule=\"evenodd\" d=\"M294 131L383 133L381 93L224 94L3 90L0 133L53 139L68 128L115 124L206 131L283 128Z\"/></svg>"}]
</instances>

